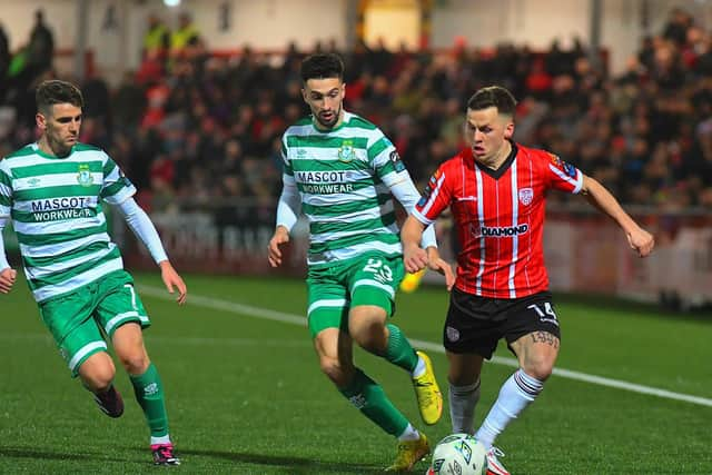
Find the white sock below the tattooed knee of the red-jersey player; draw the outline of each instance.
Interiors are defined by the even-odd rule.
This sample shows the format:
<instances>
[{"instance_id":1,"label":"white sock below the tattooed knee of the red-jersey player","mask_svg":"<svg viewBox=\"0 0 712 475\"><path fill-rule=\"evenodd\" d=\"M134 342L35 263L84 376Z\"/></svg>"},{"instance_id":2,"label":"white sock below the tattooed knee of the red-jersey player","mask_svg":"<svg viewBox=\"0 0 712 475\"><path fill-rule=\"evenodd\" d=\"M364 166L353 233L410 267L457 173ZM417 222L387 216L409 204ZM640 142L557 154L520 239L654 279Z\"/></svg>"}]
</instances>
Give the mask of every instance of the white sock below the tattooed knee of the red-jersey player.
<instances>
[{"instance_id":1,"label":"white sock below the tattooed knee of the red-jersey player","mask_svg":"<svg viewBox=\"0 0 712 475\"><path fill-rule=\"evenodd\" d=\"M518 369L502 385L497 400L490 409L490 414L482 423L475 437L490 449L494 439L512 419L515 419L526 406L536 399L543 387L544 382Z\"/></svg>"}]
</instances>

